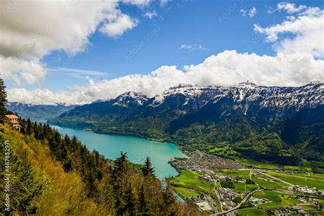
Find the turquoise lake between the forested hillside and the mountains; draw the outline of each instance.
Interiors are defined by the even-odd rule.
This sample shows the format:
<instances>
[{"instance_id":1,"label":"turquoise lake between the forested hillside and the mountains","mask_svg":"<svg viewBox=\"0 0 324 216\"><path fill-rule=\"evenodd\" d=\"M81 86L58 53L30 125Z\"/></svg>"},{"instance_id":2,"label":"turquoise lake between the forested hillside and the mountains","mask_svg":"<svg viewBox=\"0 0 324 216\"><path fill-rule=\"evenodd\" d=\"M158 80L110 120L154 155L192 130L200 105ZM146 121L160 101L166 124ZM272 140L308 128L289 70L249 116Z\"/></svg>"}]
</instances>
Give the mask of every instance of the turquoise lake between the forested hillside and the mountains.
<instances>
[{"instance_id":1,"label":"turquoise lake between the forested hillside and the mountains","mask_svg":"<svg viewBox=\"0 0 324 216\"><path fill-rule=\"evenodd\" d=\"M146 157L150 157L155 174L159 178L176 176L178 172L167 161L172 157L186 157L172 143L150 141L131 136L98 134L62 126L53 127L62 135L75 135L89 150L96 149L108 159L120 157L120 151L126 152L129 161L133 163L144 163Z\"/></svg>"}]
</instances>

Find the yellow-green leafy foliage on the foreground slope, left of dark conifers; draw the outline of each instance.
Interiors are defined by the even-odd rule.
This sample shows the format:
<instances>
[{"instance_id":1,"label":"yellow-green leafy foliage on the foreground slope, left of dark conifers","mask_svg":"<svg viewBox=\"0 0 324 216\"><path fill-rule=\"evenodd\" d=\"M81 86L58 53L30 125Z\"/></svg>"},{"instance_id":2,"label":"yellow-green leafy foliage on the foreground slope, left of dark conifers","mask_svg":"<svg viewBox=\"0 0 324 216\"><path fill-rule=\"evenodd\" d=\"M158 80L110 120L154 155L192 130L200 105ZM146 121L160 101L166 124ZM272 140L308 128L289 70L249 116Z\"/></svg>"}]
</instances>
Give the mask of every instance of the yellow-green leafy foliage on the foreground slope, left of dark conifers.
<instances>
[{"instance_id":1,"label":"yellow-green leafy foliage on the foreground slope, left of dark conifers","mask_svg":"<svg viewBox=\"0 0 324 216\"><path fill-rule=\"evenodd\" d=\"M33 200L34 205L38 207L37 214L109 214L105 208L98 208L98 204L86 197L85 185L79 174L64 172L62 164L55 161L49 146L42 145L33 136L22 135L9 126L3 127L0 135L9 141L12 154L16 155L18 160L27 152L27 157L36 171L36 182L42 185L42 193ZM11 173L10 183L14 185L14 170Z\"/></svg>"}]
</instances>

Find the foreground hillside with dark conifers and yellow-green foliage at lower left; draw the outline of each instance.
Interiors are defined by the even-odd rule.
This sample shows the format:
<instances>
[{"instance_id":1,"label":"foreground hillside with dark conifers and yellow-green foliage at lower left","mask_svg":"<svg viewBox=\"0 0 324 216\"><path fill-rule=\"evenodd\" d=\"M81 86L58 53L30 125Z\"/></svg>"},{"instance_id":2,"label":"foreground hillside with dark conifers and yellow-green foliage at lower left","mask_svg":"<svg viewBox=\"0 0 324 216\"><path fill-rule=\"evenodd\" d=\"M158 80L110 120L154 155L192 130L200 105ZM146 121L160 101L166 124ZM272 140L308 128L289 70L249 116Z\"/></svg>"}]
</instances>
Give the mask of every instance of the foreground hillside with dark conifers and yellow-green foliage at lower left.
<instances>
[{"instance_id":1,"label":"foreground hillside with dark conifers and yellow-green foliage at lower left","mask_svg":"<svg viewBox=\"0 0 324 216\"><path fill-rule=\"evenodd\" d=\"M3 83L2 83L3 84ZM147 159L135 165L122 153L116 161L90 152L77 137L62 137L48 124L19 120L21 132L4 119L0 89L1 167L10 149L8 170L1 169L1 200L10 197L10 213L36 215L197 215L177 201L170 185L154 176ZM10 191L5 176L10 173ZM5 213L5 202L0 204ZM8 212L7 212L8 213Z\"/></svg>"}]
</instances>

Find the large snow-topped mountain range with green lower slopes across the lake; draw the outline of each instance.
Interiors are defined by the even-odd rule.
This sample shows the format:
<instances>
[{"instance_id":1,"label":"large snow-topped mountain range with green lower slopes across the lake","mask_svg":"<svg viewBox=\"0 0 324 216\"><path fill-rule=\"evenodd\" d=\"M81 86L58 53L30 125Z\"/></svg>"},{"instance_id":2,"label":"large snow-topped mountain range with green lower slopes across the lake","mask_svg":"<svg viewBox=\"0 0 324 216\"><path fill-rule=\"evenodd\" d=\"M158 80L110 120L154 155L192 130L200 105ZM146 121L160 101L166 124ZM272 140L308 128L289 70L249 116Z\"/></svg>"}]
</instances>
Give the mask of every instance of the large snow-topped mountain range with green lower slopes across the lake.
<instances>
[{"instance_id":1,"label":"large snow-topped mountain range with green lower slopes across the lake","mask_svg":"<svg viewBox=\"0 0 324 216\"><path fill-rule=\"evenodd\" d=\"M323 83L178 85L153 98L126 92L112 100L75 107L53 122L175 141L187 149L215 154L221 154L215 147L227 146L230 157L297 163L296 152L306 148L303 157L323 159L323 107Z\"/></svg>"}]
</instances>

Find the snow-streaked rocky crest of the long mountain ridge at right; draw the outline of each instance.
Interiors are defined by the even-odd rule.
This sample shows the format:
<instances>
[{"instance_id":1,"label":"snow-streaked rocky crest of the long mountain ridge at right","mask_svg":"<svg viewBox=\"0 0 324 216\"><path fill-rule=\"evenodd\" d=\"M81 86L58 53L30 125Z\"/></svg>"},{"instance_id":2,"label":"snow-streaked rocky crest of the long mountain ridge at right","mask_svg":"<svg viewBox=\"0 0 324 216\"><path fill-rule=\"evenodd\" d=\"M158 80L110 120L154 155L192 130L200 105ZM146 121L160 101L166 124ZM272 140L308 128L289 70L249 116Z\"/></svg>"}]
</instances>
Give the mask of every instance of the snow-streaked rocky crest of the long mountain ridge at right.
<instances>
[{"instance_id":1,"label":"snow-streaked rocky crest of the long mountain ridge at right","mask_svg":"<svg viewBox=\"0 0 324 216\"><path fill-rule=\"evenodd\" d=\"M185 109L185 106L193 104L200 109L211 101L217 103L221 98L232 98L234 106L241 108L244 113L248 113L256 105L260 109L299 111L324 103L324 84L309 83L301 87L265 87L250 82L239 83L232 87L178 85L166 90L161 96L155 96L150 105L156 107L170 100L169 98L176 97L185 98L183 104L179 105L179 109Z\"/></svg>"}]
</instances>

